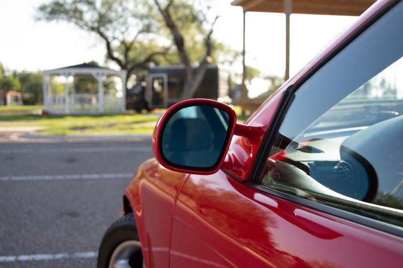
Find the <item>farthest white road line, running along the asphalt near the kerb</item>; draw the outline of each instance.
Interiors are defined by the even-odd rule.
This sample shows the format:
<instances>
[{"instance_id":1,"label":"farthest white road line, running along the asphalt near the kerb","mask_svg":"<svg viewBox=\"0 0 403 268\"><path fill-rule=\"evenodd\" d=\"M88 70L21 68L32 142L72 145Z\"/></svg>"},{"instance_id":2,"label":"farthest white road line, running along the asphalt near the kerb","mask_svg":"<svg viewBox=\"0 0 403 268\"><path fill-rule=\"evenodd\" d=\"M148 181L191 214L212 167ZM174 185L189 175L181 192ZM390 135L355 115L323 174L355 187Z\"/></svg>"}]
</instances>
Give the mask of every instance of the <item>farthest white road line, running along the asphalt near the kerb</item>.
<instances>
[{"instance_id":1,"label":"farthest white road line, running along the asphalt near the kerb","mask_svg":"<svg viewBox=\"0 0 403 268\"><path fill-rule=\"evenodd\" d=\"M38 149L3 149L0 153L69 153L69 152L151 152L148 147L100 147L100 148L38 148Z\"/></svg>"}]
</instances>

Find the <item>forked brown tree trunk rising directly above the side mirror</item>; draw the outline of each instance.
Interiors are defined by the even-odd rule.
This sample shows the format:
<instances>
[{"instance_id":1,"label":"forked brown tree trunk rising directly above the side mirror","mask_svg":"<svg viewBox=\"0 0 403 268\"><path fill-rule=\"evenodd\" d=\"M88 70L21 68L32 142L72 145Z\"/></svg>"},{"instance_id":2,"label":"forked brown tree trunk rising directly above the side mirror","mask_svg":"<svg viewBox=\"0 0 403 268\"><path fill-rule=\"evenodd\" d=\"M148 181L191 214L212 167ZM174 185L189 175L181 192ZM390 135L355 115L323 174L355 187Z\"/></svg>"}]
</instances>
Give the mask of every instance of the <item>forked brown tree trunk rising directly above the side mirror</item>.
<instances>
[{"instance_id":1,"label":"forked brown tree trunk rising directly above the side mirror","mask_svg":"<svg viewBox=\"0 0 403 268\"><path fill-rule=\"evenodd\" d=\"M197 90L198 85L200 84L201 80L203 80L208 65L210 63L212 63L213 42L211 40L211 35L213 33L213 26L214 26L215 22L217 21L218 17L216 17L214 19L214 21L212 22L212 24L210 26L210 30L205 30L204 22L206 21L206 16L203 16L204 15L203 12L197 12L196 9L186 10L185 7L190 5L187 2L180 1L180 2L178 2L178 4L179 4L178 5L177 3L174 2L174 0L169 0L165 4L165 7L163 7L161 5L159 0L154 0L154 2L157 5L158 10L160 11L161 16L164 19L167 28L171 32L172 40L177 49L177 53L180 57L182 64L185 66L186 78L185 78L185 82L184 82L184 86L183 86L182 98L189 99L194 95L195 91ZM175 9L173 8L174 5L176 6ZM184 8L183 13L181 13L181 12L178 13L177 10L180 8ZM175 10L177 14L184 14L185 18L190 19L191 22L193 22L194 25L196 25L196 28L201 30L201 33L205 34L205 37L204 37L205 53L204 53L203 58L199 59L198 67L195 71L193 71L193 66L192 66L193 62L191 61L191 58L187 51L185 38L184 38L180 28L178 27L178 25L180 25L179 24L180 19L182 19L183 17L179 16L179 17L175 18L175 16L172 13L172 10ZM199 39L199 38L200 37L198 36L197 39Z\"/></svg>"}]
</instances>

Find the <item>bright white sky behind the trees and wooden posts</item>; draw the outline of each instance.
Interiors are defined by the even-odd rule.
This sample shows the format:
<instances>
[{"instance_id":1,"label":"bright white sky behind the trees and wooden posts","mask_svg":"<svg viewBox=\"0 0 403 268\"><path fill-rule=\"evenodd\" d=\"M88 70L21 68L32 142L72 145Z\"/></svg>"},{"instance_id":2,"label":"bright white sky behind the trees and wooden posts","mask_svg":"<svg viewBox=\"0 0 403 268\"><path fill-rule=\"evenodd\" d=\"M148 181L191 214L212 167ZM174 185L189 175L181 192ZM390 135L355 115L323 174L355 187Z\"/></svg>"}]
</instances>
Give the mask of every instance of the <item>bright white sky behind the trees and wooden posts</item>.
<instances>
[{"instance_id":1,"label":"bright white sky behind the trees and wooden posts","mask_svg":"<svg viewBox=\"0 0 403 268\"><path fill-rule=\"evenodd\" d=\"M0 0L0 62L10 70L48 70L95 60L104 62L104 44L95 34L65 22L36 22L36 8L48 0ZM220 18L214 26L214 38L233 49L242 50L243 15L232 0L214 3ZM353 23L357 17L291 15L290 74L309 62L327 43ZM284 76L285 15L246 13L246 64L263 75ZM241 66L235 66L240 72ZM251 96L267 88L267 82L255 79ZM256 87L256 89L253 89Z\"/></svg>"}]
</instances>

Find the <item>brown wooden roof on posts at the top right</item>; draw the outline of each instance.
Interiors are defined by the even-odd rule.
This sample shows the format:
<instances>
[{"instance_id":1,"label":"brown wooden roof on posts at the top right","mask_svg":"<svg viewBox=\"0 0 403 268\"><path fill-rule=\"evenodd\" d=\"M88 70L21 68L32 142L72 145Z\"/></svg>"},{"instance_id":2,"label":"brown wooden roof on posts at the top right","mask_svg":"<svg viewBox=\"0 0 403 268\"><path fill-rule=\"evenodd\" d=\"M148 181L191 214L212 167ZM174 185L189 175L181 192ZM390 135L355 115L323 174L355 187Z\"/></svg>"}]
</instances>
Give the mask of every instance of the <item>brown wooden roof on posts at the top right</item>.
<instances>
[{"instance_id":1,"label":"brown wooden roof on posts at the top right","mask_svg":"<svg viewBox=\"0 0 403 268\"><path fill-rule=\"evenodd\" d=\"M235 0L232 6L240 6L244 12L284 13L286 0ZM360 16L376 0L292 0L292 13L316 15Z\"/></svg>"}]
</instances>

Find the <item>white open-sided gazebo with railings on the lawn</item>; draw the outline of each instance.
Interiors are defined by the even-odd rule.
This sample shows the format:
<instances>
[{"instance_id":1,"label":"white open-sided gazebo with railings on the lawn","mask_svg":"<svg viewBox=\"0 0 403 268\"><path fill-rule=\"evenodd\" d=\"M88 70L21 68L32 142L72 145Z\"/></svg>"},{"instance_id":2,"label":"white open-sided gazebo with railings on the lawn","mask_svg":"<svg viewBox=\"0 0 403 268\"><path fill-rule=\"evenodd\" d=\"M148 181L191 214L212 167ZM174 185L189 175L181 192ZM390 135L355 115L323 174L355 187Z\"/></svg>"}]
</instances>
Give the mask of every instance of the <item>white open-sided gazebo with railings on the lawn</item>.
<instances>
[{"instance_id":1,"label":"white open-sided gazebo with railings on the lawn","mask_svg":"<svg viewBox=\"0 0 403 268\"><path fill-rule=\"evenodd\" d=\"M95 64L83 63L42 71L44 110L50 114L91 114L91 113L124 113L126 109L126 70L112 70ZM62 76L64 94L52 94L51 77ZM121 92L104 94L103 80L117 76L121 79ZM75 90L78 79L94 77L98 81L97 94L83 94ZM72 78L72 79L71 79Z\"/></svg>"}]
</instances>

